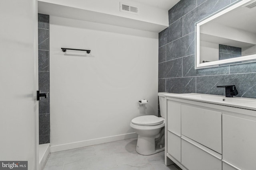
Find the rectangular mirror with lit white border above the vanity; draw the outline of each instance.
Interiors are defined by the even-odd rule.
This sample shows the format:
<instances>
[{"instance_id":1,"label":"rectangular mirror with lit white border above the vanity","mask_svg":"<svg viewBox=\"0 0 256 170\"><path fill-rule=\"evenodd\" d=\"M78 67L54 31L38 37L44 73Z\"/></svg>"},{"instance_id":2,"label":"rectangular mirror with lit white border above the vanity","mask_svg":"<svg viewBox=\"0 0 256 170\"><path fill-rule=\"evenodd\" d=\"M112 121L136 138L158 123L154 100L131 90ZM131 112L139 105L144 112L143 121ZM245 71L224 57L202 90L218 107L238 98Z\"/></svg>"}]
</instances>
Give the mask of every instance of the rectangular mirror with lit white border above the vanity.
<instances>
[{"instance_id":1,"label":"rectangular mirror with lit white border above the vanity","mask_svg":"<svg viewBox=\"0 0 256 170\"><path fill-rule=\"evenodd\" d=\"M196 69L255 61L256 0L241 0L196 23Z\"/></svg>"}]
</instances>

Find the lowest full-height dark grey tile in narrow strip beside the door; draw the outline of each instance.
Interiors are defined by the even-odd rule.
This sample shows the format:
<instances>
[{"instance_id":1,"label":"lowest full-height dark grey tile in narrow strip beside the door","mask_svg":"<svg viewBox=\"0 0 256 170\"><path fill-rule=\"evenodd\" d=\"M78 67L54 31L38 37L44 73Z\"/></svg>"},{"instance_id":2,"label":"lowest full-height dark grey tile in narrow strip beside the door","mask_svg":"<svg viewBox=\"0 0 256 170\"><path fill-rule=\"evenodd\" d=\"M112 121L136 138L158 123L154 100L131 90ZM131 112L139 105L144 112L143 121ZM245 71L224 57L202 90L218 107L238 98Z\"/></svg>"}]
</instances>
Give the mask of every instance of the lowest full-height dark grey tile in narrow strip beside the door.
<instances>
[{"instance_id":1,"label":"lowest full-height dark grey tile in narrow strip beside the door","mask_svg":"<svg viewBox=\"0 0 256 170\"><path fill-rule=\"evenodd\" d=\"M39 136L50 135L50 114L39 115Z\"/></svg>"}]
</instances>

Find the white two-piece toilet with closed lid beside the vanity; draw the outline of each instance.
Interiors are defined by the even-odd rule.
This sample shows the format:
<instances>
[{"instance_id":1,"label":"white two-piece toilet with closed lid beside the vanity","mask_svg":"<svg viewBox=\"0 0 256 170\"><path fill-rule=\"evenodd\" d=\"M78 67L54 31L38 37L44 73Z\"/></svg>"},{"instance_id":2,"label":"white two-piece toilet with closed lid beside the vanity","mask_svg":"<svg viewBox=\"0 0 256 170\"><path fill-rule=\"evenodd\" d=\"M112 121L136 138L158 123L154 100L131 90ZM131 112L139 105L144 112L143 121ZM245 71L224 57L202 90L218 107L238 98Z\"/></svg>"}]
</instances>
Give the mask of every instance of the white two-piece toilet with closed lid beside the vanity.
<instances>
[{"instance_id":1,"label":"white two-piece toilet with closed lid beside the vanity","mask_svg":"<svg viewBox=\"0 0 256 170\"><path fill-rule=\"evenodd\" d=\"M132 119L130 126L138 134L136 152L142 155L155 154L164 150L164 121L166 115L166 92L158 93L160 114L139 116Z\"/></svg>"}]
</instances>

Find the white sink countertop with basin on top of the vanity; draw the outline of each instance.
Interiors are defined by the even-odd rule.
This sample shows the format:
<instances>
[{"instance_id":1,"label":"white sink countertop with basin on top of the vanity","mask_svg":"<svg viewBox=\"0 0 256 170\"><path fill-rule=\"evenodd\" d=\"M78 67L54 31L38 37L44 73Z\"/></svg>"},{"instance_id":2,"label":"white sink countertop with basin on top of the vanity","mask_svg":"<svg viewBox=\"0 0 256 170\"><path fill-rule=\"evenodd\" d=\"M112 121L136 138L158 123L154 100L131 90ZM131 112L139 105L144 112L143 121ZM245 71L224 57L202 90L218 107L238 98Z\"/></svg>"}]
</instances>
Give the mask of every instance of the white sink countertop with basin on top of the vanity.
<instances>
[{"instance_id":1,"label":"white sink countertop with basin on top of the vanity","mask_svg":"<svg viewBox=\"0 0 256 170\"><path fill-rule=\"evenodd\" d=\"M250 99L250 98L239 98L239 97L227 98L225 96L218 96L218 95L211 95L211 94L197 94L197 93L174 94L174 95L166 94L165 96L256 110L256 99Z\"/></svg>"}]
</instances>

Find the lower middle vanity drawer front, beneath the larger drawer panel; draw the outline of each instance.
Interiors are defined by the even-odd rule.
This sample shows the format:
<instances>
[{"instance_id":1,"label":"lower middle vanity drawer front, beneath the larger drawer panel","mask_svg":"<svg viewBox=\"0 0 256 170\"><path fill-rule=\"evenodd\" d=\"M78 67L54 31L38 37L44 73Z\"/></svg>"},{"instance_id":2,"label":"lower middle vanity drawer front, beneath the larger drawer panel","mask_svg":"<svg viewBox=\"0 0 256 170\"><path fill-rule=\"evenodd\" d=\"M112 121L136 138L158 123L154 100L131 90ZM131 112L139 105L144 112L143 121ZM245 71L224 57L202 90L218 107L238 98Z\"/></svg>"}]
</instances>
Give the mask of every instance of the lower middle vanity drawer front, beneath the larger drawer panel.
<instances>
[{"instance_id":1,"label":"lower middle vanity drawer front, beneath the larger drawer panel","mask_svg":"<svg viewBox=\"0 0 256 170\"><path fill-rule=\"evenodd\" d=\"M222 170L221 160L181 139L181 163L189 170Z\"/></svg>"}]
</instances>

